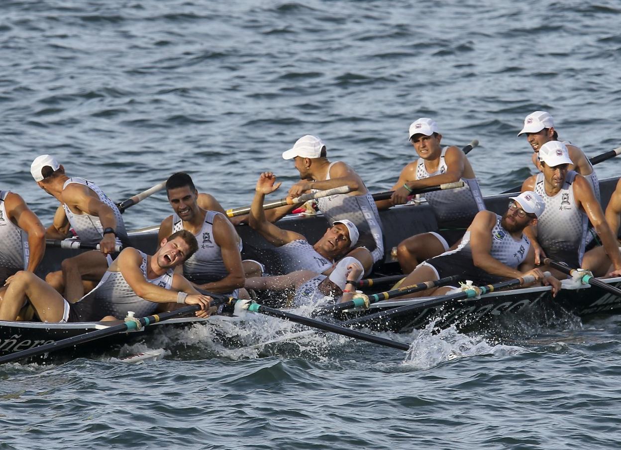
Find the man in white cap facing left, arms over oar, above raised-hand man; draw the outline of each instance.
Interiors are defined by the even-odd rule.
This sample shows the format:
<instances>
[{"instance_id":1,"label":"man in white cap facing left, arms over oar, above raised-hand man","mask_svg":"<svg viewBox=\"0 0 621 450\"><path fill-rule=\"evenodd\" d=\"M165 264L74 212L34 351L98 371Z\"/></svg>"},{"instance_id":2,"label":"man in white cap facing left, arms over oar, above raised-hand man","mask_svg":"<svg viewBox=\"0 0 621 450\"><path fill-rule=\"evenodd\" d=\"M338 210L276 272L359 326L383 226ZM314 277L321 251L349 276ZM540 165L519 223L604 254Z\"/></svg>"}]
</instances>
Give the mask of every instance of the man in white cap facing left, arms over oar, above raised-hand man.
<instances>
[{"instance_id":1,"label":"man in white cap facing left, arms over oar, above raised-hand man","mask_svg":"<svg viewBox=\"0 0 621 450\"><path fill-rule=\"evenodd\" d=\"M347 194L319 198L317 206L328 224L343 219L355 224L360 236L355 249L349 254L363 263L365 272L369 272L374 263L382 261L384 242L378 209L360 175L345 162L330 162L324 142L309 134L302 136L291 149L283 152L283 158L294 160L301 178L301 181L289 189L289 196L292 198L307 191L350 187ZM363 256L366 252L370 252L371 264L366 262L368 257Z\"/></svg>"}]
</instances>

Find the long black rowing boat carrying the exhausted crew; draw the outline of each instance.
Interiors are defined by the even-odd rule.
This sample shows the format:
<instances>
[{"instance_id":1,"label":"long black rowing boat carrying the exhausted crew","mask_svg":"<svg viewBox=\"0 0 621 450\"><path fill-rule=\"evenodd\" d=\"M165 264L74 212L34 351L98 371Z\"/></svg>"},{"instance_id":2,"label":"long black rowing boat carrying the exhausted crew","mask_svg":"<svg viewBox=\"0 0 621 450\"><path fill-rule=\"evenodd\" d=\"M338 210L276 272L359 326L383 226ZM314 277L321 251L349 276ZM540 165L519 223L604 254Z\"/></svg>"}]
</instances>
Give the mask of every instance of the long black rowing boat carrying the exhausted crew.
<instances>
[{"instance_id":1,"label":"long black rowing boat carrying the exhausted crew","mask_svg":"<svg viewBox=\"0 0 621 450\"><path fill-rule=\"evenodd\" d=\"M602 205L605 206L614 191L618 178L609 178L600 182ZM487 209L502 214L507 208L507 201L510 194L487 196L484 200ZM380 218L384 230L384 265L380 269L382 274L395 273L398 267L390 249L395 247L406 237L413 234L434 231L437 229L437 222L432 214L430 206L427 204L407 204L396 206L386 211L380 211ZM310 242L315 242L321 237L328 224L320 215L307 216L299 214L289 216L279 221L279 227L291 229L307 237ZM144 252L152 254L155 252L157 242L157 227L150 227L140 231L130 232L129 237L134 242L135 247ZM237 231L244 243L243 257L256 259L261 255L269 254L273 247L262 239L256 232L248 226L237 226ZM81 250L75 249L48 249L42 264L39 267L41 274L51 270L60 269L63 259L76 255ZM621 278L606 280L615 287L621 287ZM594 314L617 314L621 313L621 299L604 292L598 287L575 286L564 283L563 290L552 298L550 288L535 287L508 292L494 292L481 296L479 299L469 299L466 301L451 301L444 305L428 308L425 301L429 299L417 298L405 301L386 301L371 305L366 311L352 310L343 311L339 319L351 320L360 315L376 313L386 308L394 308L403 305L420 305L408 315L399 316L391 319L387 323L373 324L373 328L379 330L390 330L397 333L410 331L413 328L422 328L430 321L434 321L434 326L444 328L455 324L458 328L465 328L476 324L487 323L490 319L515 315L519 311L535 306L550 306L563 308L564 310L579 317L587 317ZM107 343L128 342L141 339L146 333L152 330L161 329L161 326L188 326L194 323L211 323L209 319L198 318L178 318L171 319L157 326L124 333L119 336L109 338ZM0 355L9 354L19 350L42 345L50 341L76 336L82 333L89 333L96 329L109 326L109 324L94 323L35 323L35 322L0 322Z\"/></svg>"}]
</instances>

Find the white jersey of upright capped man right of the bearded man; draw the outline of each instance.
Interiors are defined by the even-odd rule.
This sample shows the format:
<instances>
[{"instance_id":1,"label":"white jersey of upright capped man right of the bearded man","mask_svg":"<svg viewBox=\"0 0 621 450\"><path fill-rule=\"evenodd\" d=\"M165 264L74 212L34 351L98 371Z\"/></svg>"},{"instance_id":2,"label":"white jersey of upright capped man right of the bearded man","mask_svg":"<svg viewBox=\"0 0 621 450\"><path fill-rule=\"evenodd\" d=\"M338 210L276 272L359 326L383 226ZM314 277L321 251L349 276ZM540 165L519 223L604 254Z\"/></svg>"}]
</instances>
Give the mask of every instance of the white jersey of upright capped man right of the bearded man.
<instances>
[{"instance_id":1,"label":"white jersey of upright capped man right of the bearded man","mask_svg":"<svg viewBox=\"0 0 621 450\"><path fill-rule=\"evenodd\" d=\"M573 170L568 172L555 196L546 194L543 173L538 173L535 180L535 192L545 201L545 209L537 221L537 240L549 258L566 262L569 267L581 265L589 223L574 198L576 175Z\"/></svg>"}]
</instances>

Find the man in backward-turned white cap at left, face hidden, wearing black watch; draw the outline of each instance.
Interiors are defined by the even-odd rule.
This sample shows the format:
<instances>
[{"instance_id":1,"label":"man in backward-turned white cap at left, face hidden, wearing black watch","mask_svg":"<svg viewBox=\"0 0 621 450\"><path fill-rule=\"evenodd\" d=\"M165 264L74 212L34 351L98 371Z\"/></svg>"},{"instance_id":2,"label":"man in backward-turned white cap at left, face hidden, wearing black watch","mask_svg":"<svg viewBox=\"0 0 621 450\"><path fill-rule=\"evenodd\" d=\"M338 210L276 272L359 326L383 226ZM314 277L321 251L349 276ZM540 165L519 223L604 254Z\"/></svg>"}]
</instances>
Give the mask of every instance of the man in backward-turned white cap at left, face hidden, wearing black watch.
<instances>
[{"instance_id":1,"label":"man in backward-turned white cap at left, face hidden, wearing black watch","mask_svg":"<svg viewBox=\"0 0 621 450\"><path fill-rule=\"evenodd\" d=\"M83 280L99 282L112 262L117 246L127 246L125 224L116 204L93 183L84 178L70 178L65 168L50 155L41 155L30 165L30 173L42 190L60 201L52 226L45 236L65 239L70 228L82 244L99 244L100 250L84 252L65 259L58 272L49 273L46 280L58 292L65 291L68 301L84 295Z\"/></svg>"}]
</instances>

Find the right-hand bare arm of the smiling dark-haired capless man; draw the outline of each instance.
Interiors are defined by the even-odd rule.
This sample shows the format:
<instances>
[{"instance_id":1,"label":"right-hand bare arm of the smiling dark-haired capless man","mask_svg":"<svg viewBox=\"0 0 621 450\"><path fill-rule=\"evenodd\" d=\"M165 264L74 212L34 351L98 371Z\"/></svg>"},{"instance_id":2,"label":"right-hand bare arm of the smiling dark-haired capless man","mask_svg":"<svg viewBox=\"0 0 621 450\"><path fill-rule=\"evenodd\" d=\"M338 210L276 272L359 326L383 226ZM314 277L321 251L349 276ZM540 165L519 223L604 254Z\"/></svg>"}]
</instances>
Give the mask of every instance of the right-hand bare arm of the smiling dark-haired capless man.
<instances>
[{"instance_id":1,"label":"right-hand bare arm of the smiling dark-haired capless man","mask_svg":"<svg viewBox=\"0 0 621 450\"><path fill-rule=\"evenodd\" d=\"M214 242L220 247L224 267L229 273L222 280L217 282L196 285L196 287L215 292L226 293L237 288L242 288L245 282L242 267L242 256L239 252L237 231L235 227L223 216L219 214L214 217Z\"/></svg>"}]
</instances>

